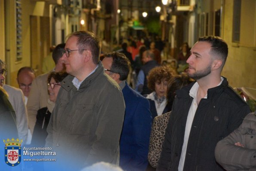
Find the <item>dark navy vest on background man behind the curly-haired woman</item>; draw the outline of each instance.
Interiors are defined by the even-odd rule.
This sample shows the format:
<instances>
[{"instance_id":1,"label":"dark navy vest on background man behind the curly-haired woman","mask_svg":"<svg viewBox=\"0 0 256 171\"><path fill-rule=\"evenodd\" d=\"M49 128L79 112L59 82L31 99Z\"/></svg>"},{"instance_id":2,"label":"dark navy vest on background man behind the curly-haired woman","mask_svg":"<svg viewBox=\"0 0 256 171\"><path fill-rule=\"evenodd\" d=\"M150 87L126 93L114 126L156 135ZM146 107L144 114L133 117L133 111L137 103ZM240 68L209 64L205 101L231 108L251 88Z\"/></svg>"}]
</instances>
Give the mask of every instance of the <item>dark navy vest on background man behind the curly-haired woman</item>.
<instances>
[{"instance_id":1,"label":"dark navy vest on background man behind the curly-haired woman","mask_svg":"<svg viewBox=\"0 0 256 171\"><path fill-rule=\"evenodd\" d=\"M141 67L141 70L143 71L144 73L144 84L143 84L143 89L142 89L142 95L148 95L150 94L152 91L150 89L148 89L148 79L147 79L147 76L148 76L148 72L153 69L154 67L157 67L159 66L157 64L157 61L148 61L147 63L145 63L142 67Z\"/></svg>"}]
</instances>

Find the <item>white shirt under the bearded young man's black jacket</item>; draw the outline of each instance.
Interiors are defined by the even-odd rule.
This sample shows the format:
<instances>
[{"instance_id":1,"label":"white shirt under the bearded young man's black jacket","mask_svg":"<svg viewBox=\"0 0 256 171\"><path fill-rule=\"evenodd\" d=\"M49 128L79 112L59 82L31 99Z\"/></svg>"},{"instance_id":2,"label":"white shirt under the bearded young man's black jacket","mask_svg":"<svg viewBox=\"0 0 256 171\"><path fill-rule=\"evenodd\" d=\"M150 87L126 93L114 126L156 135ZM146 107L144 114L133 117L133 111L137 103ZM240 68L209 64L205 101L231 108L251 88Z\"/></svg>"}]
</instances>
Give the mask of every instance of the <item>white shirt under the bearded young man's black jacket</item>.
<instances>
[{"instance_id":1,"label":"white shirt under the bearded young man's black jacket","mask_svg":"<svg viewBox=\"0 0 256 171\"><path fill-rule=\"evenodd\" d=\"M219 83L219 85L221 85L223 78L221 78L221 81ZM219 86L217 85L217 86ZM192 122L194 120L194 115L196 113L197 110L197 91L199 89L199 84L196 82L194 83L194 85L191 87L190 91L189 91L189 95L193 98L192 104L190 106L190 109L188 111L188 117L187 117L187 122L186 122L186 127L185 127L185 134L184 134L184 142L183 142L183 146L182 146L182 152L181 152L181 156L179 159L179 167L178 167L178 171L183 171L183 167L184 167L184 162L185 162L185 157L186 157L186 152L187 152L187 146L188 146L188 137L190 134L190 130L191 130L191 126L192 126ZM207 94L205 95L204 98L207 98Z\"/></svg>"}]
</instances>

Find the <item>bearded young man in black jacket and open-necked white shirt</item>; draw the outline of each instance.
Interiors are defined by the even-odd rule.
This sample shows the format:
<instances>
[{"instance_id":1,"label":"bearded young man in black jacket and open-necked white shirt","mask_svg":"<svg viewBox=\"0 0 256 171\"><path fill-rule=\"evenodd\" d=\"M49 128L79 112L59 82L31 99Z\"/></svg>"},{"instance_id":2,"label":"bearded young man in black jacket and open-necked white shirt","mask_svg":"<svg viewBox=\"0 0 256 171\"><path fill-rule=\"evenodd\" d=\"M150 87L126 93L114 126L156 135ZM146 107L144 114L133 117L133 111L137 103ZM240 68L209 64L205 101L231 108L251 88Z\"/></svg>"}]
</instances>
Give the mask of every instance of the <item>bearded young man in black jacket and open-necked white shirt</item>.
<instances>
[{"instance_id":1,"label":"bearded young man in black jacket and open-necked white shirt","mask_svg":"<svg viewBox=\"0 0 256 171\"><path fill-rule=\"evenodd\" d=\"M248 105L221 76L228 45L201 37L191 49L188 76L196 81L176 92L157 170L222 171L214 149L250 113Z\"/></svg>"}]
</instances>

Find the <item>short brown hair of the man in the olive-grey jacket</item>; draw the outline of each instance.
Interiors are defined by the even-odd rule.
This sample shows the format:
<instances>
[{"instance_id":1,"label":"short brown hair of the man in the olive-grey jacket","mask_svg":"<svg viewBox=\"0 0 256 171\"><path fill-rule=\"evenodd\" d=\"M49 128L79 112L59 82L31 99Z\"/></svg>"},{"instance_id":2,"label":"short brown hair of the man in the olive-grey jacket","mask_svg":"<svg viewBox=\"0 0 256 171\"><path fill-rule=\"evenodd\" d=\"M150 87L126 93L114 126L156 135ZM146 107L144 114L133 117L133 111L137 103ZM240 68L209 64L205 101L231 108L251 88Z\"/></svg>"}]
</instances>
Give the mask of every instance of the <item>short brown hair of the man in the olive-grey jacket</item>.
<instances>
[{"instance_id":1,"label":"short brown hair of the man in the olive-grey jacket","mask_svg":"<svg viewBox=\"0 0 256 171\"><path fill-rule=\"evenodd\" d=\"M93 63L99 63L99 54L100 54L100 41L99 39L89 31L77 31L74 32L68 37L78 37L77 39L77 46L79 49L87 49L92 52ZM80 54L83 53L83 50L79 51Z\"/></svg>"}]
</instances>

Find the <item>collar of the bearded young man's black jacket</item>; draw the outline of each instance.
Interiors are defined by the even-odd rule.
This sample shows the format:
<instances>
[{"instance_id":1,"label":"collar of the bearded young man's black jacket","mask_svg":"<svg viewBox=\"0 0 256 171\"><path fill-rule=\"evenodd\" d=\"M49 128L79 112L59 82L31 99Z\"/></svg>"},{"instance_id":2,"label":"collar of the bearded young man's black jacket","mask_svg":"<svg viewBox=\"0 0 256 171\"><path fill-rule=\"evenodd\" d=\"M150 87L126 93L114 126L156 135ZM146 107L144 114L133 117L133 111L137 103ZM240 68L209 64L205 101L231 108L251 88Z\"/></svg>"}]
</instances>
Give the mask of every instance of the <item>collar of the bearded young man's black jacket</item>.
<instances>
[{"instance_id":1,"label":"collar of the bearded young man's black jacket","mask_svg":"<svg viewBox=\"0 0 256 171\"><path fill-rule=\"evenodd\" d=\"M223 81L222 84L217 86L217 87L213 87L211 89L208 89L207 91L207 99L212 99L215 95L220 94L221 92L223 92L227 87L228 87L228 80L222 76ZM177 98L189 98L189 91L191 89L191 87L194 85L196 81L192 82L191 84L185 86L184 88L177 90L176 94L177 94Z\"/></svg>"}]
</instances>

